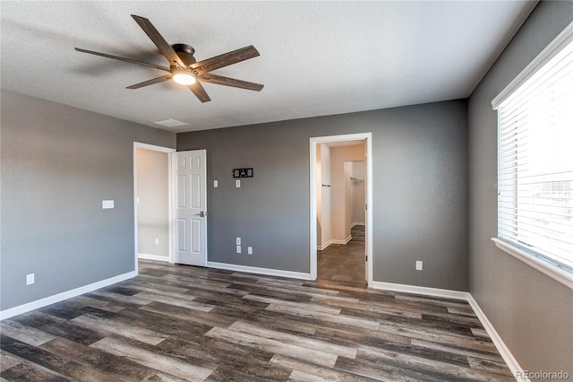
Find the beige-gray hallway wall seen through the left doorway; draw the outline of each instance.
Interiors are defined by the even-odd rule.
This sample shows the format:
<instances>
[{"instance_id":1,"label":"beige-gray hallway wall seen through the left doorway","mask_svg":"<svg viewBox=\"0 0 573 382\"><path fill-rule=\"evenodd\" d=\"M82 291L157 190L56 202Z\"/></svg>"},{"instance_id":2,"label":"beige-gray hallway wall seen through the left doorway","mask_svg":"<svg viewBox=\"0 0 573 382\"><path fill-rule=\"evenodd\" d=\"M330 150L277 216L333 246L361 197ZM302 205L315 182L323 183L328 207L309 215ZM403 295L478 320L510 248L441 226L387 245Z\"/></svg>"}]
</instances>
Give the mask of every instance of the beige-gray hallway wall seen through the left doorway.
<instances>
[{"instance_id":1,"label":"beige-gray hallway wall seen through the left doorway","mask_svg":"<svg viewBox=\"0 0 573 382\"><path fill-rule=\"evenodd\" d=\"M137 149L137 236L142 255L169 257L169 154ZM158 243L156 242L158 240Z\"/></svg>"}]
</instances>

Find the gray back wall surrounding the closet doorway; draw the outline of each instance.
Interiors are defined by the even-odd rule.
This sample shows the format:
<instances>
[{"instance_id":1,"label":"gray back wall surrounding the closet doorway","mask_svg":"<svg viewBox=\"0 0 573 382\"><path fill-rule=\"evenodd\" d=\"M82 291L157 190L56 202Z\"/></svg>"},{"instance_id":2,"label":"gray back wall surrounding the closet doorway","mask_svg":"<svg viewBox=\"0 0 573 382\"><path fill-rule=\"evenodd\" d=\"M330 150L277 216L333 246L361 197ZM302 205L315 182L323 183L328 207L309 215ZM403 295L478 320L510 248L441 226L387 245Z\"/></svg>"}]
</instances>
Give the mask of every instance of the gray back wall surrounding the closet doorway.
<instances>
[{"instance_id":1,"label":"gray back wall surrounding the closet doorway","mask_svg":"<svg viewBox=\"0 0 573 382\"><path fill-rule=\"evenodd\" d=\"M207 150L209 260L308 273L309 138L372 132L373 280L467 291L466 123L454 100L178 134Z\"/></svg>"}]
</instances>

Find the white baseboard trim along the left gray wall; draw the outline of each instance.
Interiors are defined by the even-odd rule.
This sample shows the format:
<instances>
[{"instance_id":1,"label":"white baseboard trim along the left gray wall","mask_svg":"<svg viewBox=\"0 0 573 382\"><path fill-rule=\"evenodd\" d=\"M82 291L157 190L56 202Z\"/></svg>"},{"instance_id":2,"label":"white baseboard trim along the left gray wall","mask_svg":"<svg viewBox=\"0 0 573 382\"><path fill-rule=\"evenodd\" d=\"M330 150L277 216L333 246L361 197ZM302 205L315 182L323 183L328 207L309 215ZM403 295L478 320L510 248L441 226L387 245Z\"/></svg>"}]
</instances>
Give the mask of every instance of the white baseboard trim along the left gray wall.
<instances>
[{"instance_id":1,"label":"white baseboard trim along the left gray wall","mask_svg":"<svg viewBox=\"0 0 573 382\"><path fill-rule=\"evenodd\" d=\"M137 271L119 274L106 280L84 285L80 288L76 288L70 291L63 291L53 296L48 296L44 299L35 300L27 304L20 305L18 307L5 309L0 311L0 321L5 318L10 318L21 315L22 313L30 312L30 310L43 308L46 307L47 305L55 304L56 302L72 299L73 297L80 296L81 294L89 293L90 291L95 291L100 288L107 287L111 284L115 284L116 282L123 282L124 280L131 279L132 277L135 276L137 276Z\"/></svg>"}]
</instances>

